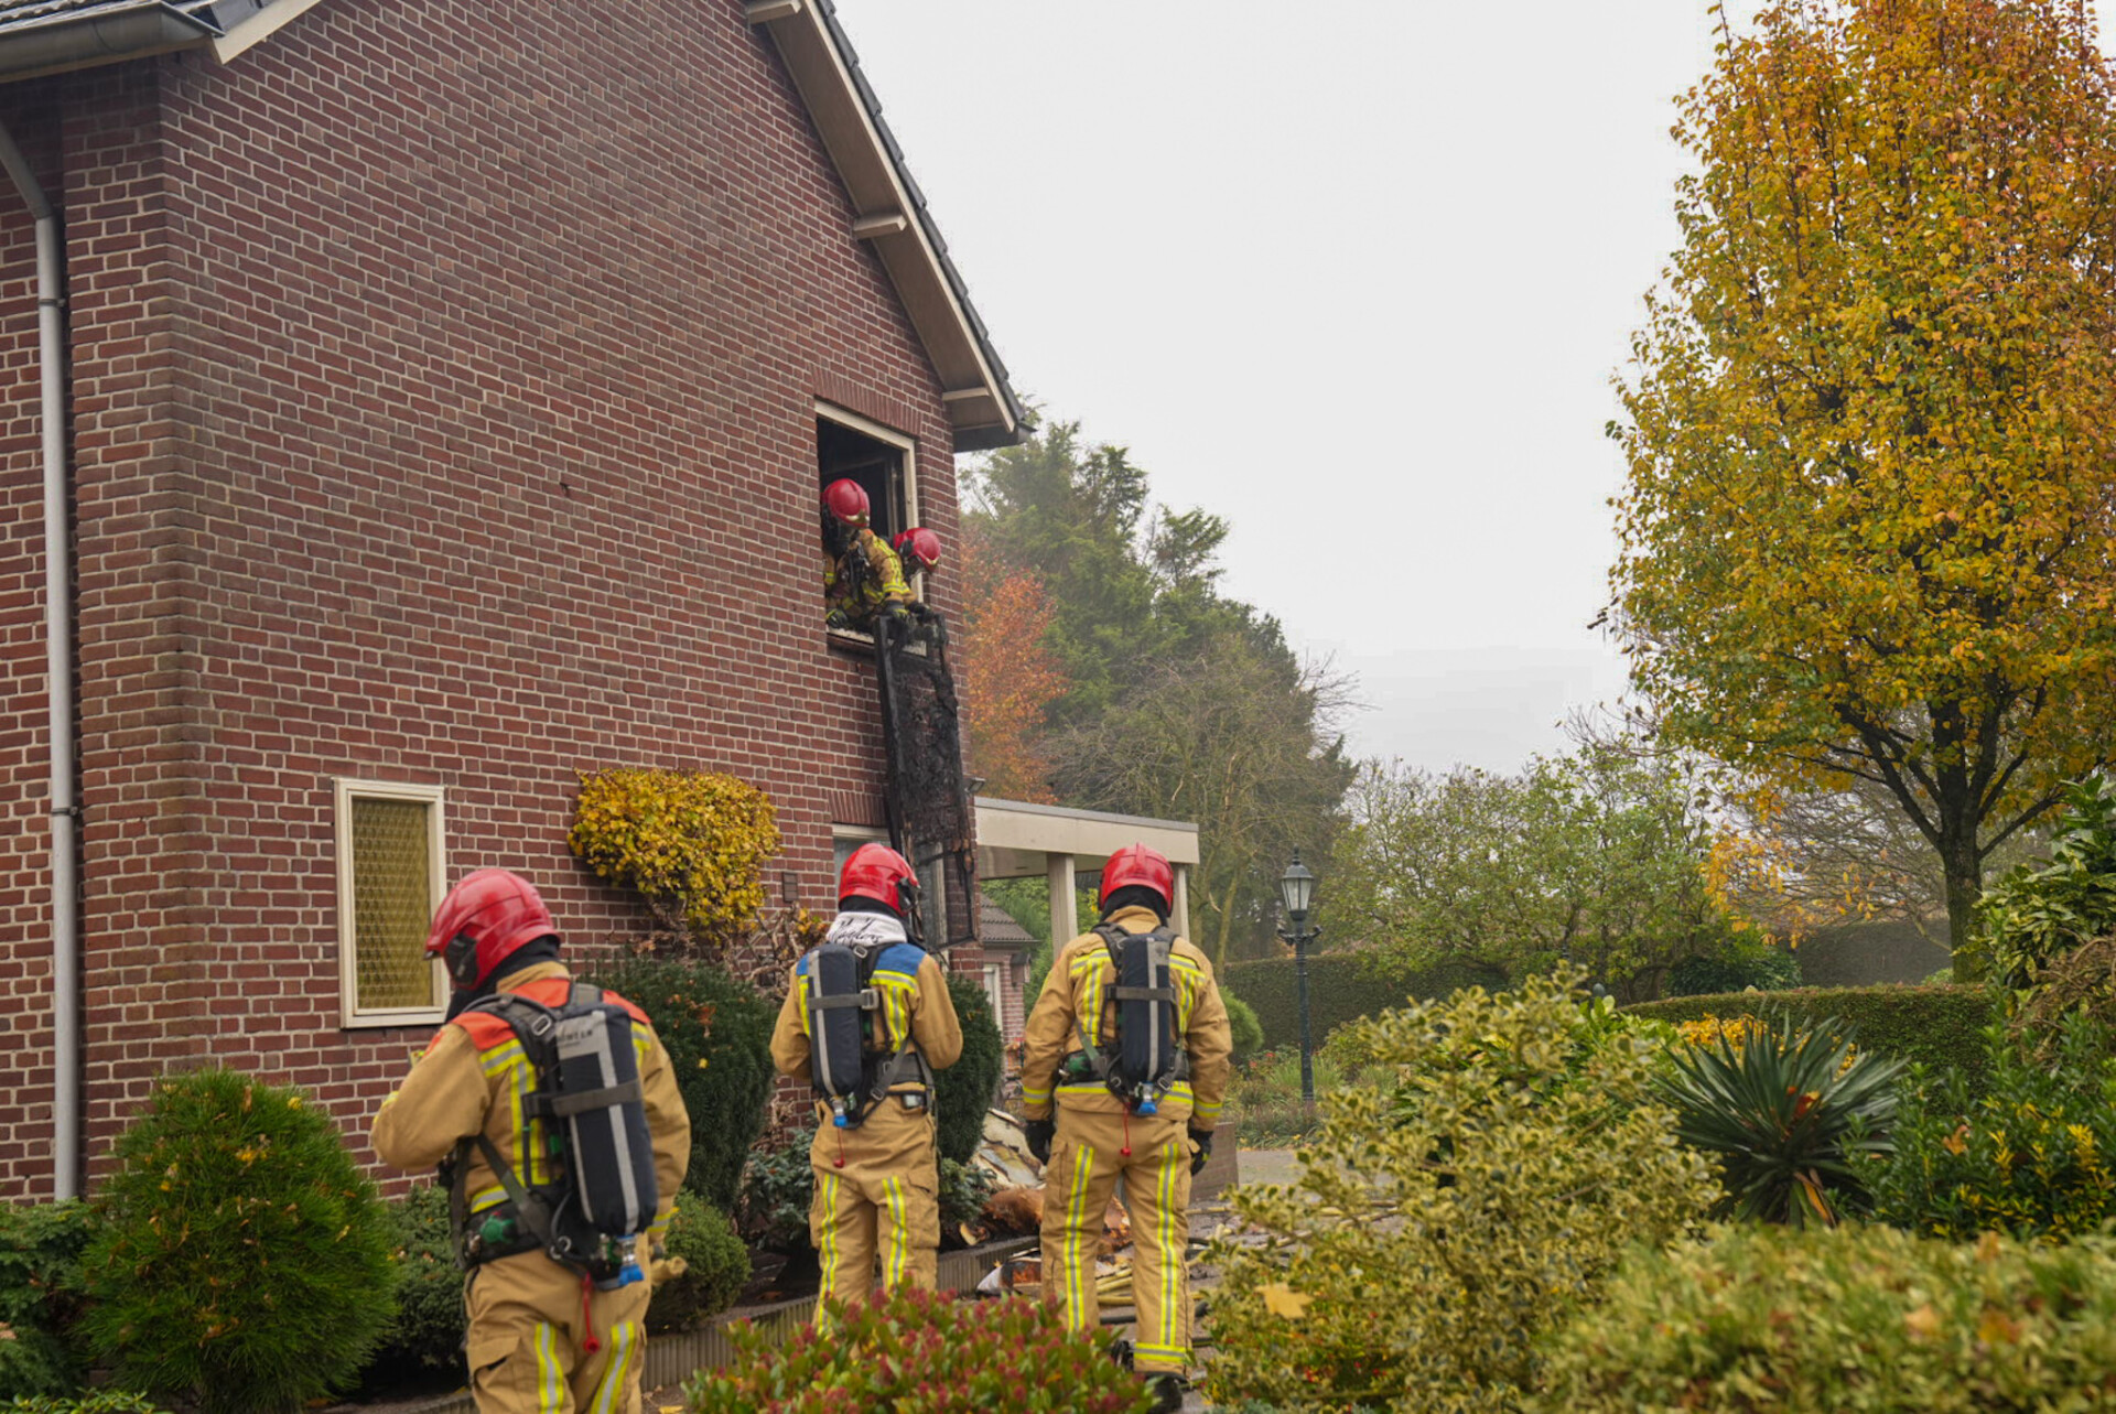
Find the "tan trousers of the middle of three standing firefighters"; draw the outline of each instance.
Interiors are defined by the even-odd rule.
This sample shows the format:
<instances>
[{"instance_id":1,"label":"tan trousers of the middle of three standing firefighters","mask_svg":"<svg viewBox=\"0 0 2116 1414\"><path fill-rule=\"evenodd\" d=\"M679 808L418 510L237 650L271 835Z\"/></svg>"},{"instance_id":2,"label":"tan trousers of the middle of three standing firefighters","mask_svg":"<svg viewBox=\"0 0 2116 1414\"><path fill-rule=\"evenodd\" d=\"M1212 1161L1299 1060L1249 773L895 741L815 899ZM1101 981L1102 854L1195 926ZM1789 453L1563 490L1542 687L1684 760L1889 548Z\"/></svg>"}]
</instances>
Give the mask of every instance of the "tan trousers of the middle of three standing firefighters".
<instances>
[{"instance_id":1,"label":"tan trousers of the middle of three standing firefighters","mask_svg":"<svg viewBox=\"0 0 2116 1414\"><path fill-rule=\"evenodd\" d=\"M901 1096L889 1096L855 1128L836 1128L825 1113L808 1164L815 1168L808 1238L823 1262L821 1293L865 1300L876 1259L882 1289L931 1291L940 1266L933 1109L906 1109Z\"/></svg>"}]
</instances>

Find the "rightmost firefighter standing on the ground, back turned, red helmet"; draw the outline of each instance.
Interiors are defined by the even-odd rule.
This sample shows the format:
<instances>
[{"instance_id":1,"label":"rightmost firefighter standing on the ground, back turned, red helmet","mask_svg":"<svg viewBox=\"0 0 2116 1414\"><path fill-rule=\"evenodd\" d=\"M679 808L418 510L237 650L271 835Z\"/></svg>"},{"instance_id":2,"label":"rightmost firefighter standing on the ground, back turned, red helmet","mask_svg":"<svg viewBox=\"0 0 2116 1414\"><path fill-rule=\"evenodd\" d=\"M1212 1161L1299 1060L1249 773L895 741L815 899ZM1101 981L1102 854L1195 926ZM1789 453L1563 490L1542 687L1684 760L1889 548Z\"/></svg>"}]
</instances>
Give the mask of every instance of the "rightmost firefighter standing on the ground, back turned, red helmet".
<instances>
[{"instance_id":1,"label":"rightmost firefighter standing on the ground, back turned, red helmet","mask_svg":"<svg viewBox=\"0 0 2116 1414\"><path fill-rule=\"evenodd\" d=\"M1166 855L1113 853L1102 921L1052 959L1022 1037L1022 1113L1043 1160L1043 1293L1073 1329L1098 1329L1094 1259L1121 1181L1136 1243L1132 1361L1162 1410L1183 1406L1189 1183L1212 1152L1234 1052L1212 963L1168 927L1172 898Z\"/></svg>"}]
</instances>

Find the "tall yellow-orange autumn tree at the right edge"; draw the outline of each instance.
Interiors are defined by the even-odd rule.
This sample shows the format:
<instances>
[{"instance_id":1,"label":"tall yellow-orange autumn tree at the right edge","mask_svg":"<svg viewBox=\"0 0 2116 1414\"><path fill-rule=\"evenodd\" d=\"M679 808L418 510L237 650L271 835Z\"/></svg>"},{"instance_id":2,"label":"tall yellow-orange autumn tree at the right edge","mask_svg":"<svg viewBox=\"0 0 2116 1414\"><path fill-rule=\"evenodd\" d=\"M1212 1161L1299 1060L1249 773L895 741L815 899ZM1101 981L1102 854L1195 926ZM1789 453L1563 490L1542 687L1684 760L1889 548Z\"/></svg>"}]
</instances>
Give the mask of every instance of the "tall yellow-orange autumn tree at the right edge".
<instances>
[{"instance_id":1,"label":"tall yellow-orange autumn tree at the right edge","mask_svg":"<svg viewBox=\"0 0 2116 1414\"><path fill-rule=\"evenodd\" d=\"M1676 743L1871 781L1938 853L2108 760L2116 121L2069 0L1788 0L1676 129L1615 622Z\"/></svg>"}]
</instances>

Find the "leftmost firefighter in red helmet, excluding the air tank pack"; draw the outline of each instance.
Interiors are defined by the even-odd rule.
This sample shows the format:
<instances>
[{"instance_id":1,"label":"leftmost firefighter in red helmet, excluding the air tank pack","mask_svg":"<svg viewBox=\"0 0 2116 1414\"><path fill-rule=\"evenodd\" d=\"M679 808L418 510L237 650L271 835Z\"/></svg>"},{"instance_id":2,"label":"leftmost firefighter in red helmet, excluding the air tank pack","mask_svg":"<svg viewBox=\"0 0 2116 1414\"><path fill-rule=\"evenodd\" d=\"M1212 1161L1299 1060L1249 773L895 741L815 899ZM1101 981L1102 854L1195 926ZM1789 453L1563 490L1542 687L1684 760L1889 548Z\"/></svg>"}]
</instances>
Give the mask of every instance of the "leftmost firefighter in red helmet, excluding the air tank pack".
<instances>
[{"instance_id":1,"label":"leftmost firefighter in red helmet, excluding the air tank pack","mask_svg":"<svg viewBox=\"0 0 2116 1414\"><path fill-rule=\"evenodd\" d=\"M599 1289L586 1268L552 1259L521 1232L529 1223L514 1221L518 1209L506 1183L561 1202L571 1173L550 1162L546 1122L523 1116L523 1096L537 1088L537 1075L514 1029L493 1012L466 1012L499 993L563 1005L571 974L559 961L559 927L527 878L476 870L440 902L425 953L446 965L455 984L449 1022L383 1101L375 1152L396 1168L449 1160L453 1183L461 1185L451 1219L468 1213L468 1221L451 1226L470 1266L466 1355L478 1414L639 1414L647 1283ZM690 1164L690 1116L645 1014L614 993L605 1001L633 1016L658 1194L647 1240L658 1247ZM495 1173L474 1147L480 1135L510 1173Z\"/></svg>"}]
</instances>

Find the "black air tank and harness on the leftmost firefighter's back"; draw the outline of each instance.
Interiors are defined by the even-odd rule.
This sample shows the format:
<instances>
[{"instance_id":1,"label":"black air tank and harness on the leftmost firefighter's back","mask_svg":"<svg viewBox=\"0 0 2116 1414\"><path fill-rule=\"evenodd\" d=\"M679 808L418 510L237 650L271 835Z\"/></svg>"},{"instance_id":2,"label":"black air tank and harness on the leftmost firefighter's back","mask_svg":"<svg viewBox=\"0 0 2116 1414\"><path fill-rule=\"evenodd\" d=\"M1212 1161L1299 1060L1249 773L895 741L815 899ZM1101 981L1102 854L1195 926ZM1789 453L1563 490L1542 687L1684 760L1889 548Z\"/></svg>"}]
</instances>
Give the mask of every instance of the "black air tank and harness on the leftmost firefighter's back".
<instances>
[{"instance_id":1,"label":"black air tank and harness on the leftmost firefighter's back","mask_svg":"<svg viewBox=\"0 0 2116 1414\"><path fill-rule=\"evenodd\" d=\"M654 1221L658 1192L633 1014L586 982L573 982L557 1008L501 993L470 1012L508 1022L529 1056L535 1090L523 1096L523 1120L544 1120L554 1177L525 1185L482 1132L459 1141L442 1164L457 1262L472 1268L542 1249L605 1291L641 1281L637 1240ZM472 1149L508 1194L476 1228L466 1194Z\"/></svg>"}]
</instances>

